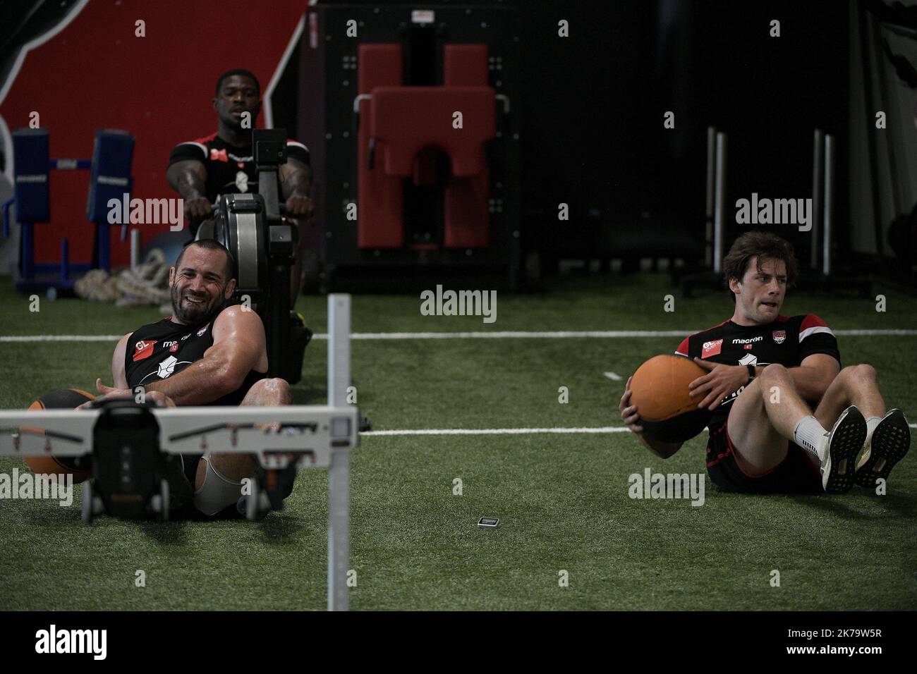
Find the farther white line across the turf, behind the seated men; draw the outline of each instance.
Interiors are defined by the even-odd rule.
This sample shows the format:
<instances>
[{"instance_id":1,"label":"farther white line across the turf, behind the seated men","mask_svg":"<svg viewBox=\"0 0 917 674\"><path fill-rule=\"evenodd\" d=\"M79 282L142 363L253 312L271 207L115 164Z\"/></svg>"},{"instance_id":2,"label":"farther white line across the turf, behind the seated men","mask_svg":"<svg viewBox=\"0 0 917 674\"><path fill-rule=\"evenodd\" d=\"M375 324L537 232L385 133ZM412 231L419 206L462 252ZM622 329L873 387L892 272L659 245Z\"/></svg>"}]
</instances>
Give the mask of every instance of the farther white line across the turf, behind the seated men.
<instances>
[{"instance_id":1,"label":"farther white line across the turf, behind the seated men","mask_svg":"<svg viewBox=\"0 0 917 674\"><path fill-rule=\"evenodd\" d=\"M554 337L685 337L697 330L584 330L556 332L355 332L351 339L515 339ZM834 330L843 337L913 337L917 330ZM10 335L0 336L0 342L110 342L124 335ZM324 333L314 339L327 339Z\"/></svg>"}]
</instances>

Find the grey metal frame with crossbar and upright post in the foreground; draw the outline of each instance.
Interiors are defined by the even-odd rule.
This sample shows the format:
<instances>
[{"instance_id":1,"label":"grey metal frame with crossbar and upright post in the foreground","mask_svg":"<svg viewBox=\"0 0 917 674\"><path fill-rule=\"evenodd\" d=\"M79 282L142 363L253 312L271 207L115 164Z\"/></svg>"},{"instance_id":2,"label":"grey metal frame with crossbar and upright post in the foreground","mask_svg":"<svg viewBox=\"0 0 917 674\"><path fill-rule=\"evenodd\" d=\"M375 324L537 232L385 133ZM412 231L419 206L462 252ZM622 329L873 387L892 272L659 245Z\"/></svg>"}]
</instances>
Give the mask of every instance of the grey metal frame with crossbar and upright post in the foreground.
<instances>
[{"instance_id":1,"label":"grey metal frame with crossbar and upright post in the foreground","mask_svg":"<svg viewBox=\"0 0 917 674\"><path fill-rule=\"evenodd\" d=\"M359 447L359 409L347 403L350 385L350 296L328 295L328 404L279 407L163 407L152 414L160 447L170 454L257 454L265 468L281 469L287 454L299 468L328 469L329 611L347 611L350 563L350 449ZM101 411L0 411L0 456L75 457L93 451ZM256 425L280 424L279 429Z\"/></svg>"}]
</instances>

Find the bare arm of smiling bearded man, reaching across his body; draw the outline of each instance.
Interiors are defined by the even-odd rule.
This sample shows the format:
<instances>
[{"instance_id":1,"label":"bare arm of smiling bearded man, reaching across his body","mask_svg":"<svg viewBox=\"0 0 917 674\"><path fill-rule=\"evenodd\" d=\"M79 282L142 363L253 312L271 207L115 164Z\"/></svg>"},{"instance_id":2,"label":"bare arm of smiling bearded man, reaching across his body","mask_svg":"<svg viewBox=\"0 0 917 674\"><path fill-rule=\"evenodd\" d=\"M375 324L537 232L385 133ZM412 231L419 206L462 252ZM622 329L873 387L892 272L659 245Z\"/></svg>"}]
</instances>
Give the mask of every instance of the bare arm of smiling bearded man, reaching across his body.
<instances>
[{"instance_id":1,"label":"bare arm of smiling bearded man, reaching across his body","mask_svg":"<svg viewBox=\"0 0 917 674\"><path fill-rule=\"evenodd\" d=\"M225 309L214 322L214 344L204 358L168 379L155 381L148 391L161 391L175 404L213 403L234 392L251 370L268 366L264 326L258 314L242 306Z\"/></svg>"}]
</instances>

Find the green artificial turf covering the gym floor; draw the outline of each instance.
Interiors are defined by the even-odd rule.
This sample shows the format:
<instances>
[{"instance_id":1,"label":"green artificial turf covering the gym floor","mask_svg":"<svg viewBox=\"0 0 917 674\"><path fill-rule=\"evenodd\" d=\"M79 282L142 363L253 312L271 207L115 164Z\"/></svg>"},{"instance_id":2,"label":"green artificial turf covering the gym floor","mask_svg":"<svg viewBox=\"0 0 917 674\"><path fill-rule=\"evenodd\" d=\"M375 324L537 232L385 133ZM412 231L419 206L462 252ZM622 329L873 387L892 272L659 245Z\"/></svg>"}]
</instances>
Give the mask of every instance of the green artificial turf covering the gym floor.
<instances>
[{"instance_id":1,"label":"green artificial turf covering the gym floor","mask_svg":"<svg viewBox=\"0 0 917 674\"><path fill-rule=\"evenodd\" d=\"M665 312L665 295L676 295ZM915 328L917 301L790 293L784 314L837 329ZM691 330L731 315L724 294L681 300L666 279L572 277L550 292L498 296L497 321L424 316L416 296L354 297L355 332ZM40 300L0 278L0 335L121 335L153 308ZM298 308L325 332L325 300ZM917 420L917 337L840 337L845 364L869 362L889 406ZM623 377L680 337L354 340L353 379L375 430L620 426ZM61 387L110 383L114 342L0 342L0 408ZM297 403L323 403L326 342L306 351ZM569 403L558 403L558 387ZM356 610L914 609L917 459L889 493L632 500L628 476L703 472L704 438L653 457L626 433L365 436L353 454L351 560ZM0 459L0 472L25 470ZM461 495L453 494L461 480ZM62 508L0 500L0 609L323 609L326 476L304 470L287 508L263 522L80 521ZM501 518L482 530L483 515ZM137 587L136 572L146 574ZM780 585L772 587L771 571ZM558 572L569 586L558 583Z\"/></svg>"}]
</instances>

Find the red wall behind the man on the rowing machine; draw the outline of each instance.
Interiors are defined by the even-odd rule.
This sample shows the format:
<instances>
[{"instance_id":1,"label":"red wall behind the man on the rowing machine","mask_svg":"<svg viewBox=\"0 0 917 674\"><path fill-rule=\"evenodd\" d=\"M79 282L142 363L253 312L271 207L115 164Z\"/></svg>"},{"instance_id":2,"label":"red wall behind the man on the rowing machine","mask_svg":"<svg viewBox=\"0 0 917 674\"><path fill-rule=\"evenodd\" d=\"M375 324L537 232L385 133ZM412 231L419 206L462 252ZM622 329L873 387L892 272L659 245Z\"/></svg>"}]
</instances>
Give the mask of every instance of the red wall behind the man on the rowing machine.
<instances>
[{"instance_id":1,"label":"red wall behind the man on the rowing machine","mask_svg":"<svg viewBox=\"0 0 917 674\"><path fill-rule=\"evenodd\" d=\"M56 36L26 56L0 116L12 131L39 112L51 157L90 157L96 128L136 138L134 197L173 197L165 180L171 148L216 130L210 102L216 77L247 68L262 94L280 66L305 0L93 0ZM135 22L146 37L135 37ZM264 126L263 112L259 127ZM36 227L36 260L60 257L62 237L73 261L88 261L92 228L85 219L88 171L55 171L51 223ZM166 231L143 226L143 240ZM112 229L112 263L127 264L129 244Z\"/></svg>"}]
</instances>

